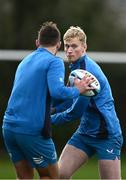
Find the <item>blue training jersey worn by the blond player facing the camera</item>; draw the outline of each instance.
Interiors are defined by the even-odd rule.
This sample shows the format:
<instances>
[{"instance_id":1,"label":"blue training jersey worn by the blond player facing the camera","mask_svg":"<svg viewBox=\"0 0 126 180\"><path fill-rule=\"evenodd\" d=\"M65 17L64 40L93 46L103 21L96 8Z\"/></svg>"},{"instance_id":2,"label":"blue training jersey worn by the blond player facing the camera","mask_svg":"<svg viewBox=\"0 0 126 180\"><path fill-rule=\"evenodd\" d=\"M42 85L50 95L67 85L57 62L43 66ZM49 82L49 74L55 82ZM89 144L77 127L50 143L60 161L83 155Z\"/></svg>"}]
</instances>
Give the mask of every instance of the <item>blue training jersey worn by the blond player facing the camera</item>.
<instances>
[{"instance_id":1,"label":"blue training jersey worn by the blond player facing the camera","mask_svg":"<svg viewBox=\"0 0 126 180\"><path fill-rule=\"evenodd\" d=\"M97 138L116 137L121 134L114 99L109 82L99 65L87 55L70 65L71 70L85 69L100 82L101 90L94 97L80 96L73 105L62 113L52 115L52 123L62 124L80 119L77 129L80 134Z\"/></svg>"}]
</instances>

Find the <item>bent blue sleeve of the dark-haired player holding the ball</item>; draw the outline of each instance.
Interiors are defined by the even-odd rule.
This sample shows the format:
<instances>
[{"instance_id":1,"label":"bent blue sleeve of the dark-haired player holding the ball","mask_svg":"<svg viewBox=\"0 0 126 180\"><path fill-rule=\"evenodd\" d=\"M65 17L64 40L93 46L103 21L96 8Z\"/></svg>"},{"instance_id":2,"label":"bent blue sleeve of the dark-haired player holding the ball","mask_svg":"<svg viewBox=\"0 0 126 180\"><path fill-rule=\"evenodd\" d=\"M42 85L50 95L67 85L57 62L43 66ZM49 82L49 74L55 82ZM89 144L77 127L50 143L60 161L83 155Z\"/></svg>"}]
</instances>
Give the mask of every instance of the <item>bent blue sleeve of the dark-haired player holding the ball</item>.
<instances>
[{"instance_id":1,"label":"bent blue sleeve of the dark-haired player holding the ball","mask_svg":"<svg viewBox=\"0 0 126 180\"><path fill-rule=\"evenodd\" d=\"M50 95L56 99L73 99L80 94L76 87L67 87L64 85L65 68L60 58L55 58L51 62L47 73L47 81Z\"/></svg>"}]
</instances>

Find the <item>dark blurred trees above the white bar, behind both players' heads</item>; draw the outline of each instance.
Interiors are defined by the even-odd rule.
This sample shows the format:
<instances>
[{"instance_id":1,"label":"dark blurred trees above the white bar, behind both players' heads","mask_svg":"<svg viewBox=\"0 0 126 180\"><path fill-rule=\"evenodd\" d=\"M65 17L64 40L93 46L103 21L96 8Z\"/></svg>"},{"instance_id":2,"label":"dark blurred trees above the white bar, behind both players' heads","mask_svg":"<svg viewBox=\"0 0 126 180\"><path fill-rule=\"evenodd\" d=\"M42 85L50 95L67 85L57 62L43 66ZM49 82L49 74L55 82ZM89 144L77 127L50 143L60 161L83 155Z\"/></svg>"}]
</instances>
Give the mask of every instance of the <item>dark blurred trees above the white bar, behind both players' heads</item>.
<instances>
[{"instance_id":1,"label":"dark blurred trees above the white bar, behind both players' heads","mask_svg":"<svg viewBox=\"0 0 126 180\"><path fill-rule=\"evenodd\" d=\"M0 0L0 48L35 48L40 25L51 20L62 34L81 26L90 51L125 51L125 15L124 0Z\"/></svg>"}]
</instances>

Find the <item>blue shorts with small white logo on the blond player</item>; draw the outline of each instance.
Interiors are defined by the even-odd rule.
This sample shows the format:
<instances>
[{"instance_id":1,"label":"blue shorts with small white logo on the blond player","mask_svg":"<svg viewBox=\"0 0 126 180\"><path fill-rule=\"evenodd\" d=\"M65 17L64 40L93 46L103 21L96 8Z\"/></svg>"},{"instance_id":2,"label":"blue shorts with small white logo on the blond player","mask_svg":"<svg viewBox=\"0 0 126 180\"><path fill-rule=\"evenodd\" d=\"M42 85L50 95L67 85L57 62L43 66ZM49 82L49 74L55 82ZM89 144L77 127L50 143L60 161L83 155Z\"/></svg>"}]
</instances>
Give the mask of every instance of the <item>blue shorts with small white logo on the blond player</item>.
<instances>
[{"instance_id":1,"label":"blue shorts with small white logo on the blond player","mask_svg":"<svg viewBox=\"0 0 126 180\"><path fill-rule=\"evenodd\" d=\"M88 157L96 154L100 160L120 159L121 147L123 143L122 136L110 139L98 139L75 132L68 144L84 151Z\"/></svg>"}]
</instances>

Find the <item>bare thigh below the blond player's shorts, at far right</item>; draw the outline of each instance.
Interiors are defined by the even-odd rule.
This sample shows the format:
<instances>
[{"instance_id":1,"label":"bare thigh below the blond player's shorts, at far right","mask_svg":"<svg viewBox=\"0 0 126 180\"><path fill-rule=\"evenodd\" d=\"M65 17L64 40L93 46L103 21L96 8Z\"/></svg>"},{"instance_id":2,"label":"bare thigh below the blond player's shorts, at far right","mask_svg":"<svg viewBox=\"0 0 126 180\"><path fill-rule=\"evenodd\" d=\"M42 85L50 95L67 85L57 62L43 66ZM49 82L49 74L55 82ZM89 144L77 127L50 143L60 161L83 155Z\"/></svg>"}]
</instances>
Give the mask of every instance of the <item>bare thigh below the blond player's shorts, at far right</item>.
<instances>
[{"instance_id":1,"label":"bare thigh below the blond player's shorts, at far right","mask_svg":"<svg viewBox=\"0 0 126 180\"><path fill-rule=\"evenodd\" d=\"M120 160L99 160L101 179L121 179Z\"/></svg>"}]
</instances>

